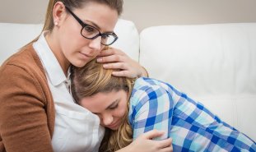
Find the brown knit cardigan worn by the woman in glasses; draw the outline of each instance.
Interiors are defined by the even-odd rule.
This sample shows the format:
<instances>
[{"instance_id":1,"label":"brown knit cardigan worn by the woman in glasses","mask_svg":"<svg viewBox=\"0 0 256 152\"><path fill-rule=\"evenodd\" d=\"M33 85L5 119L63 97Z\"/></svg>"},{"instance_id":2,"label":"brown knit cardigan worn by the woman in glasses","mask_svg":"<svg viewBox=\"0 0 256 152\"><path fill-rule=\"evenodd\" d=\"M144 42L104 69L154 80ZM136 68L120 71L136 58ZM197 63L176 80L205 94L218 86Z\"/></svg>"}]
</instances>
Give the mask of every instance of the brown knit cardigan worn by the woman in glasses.
<instances>
[{"instance_id":1,"label":"brown knit cardigan worn by the woman in glasses","mask_svg":"<svg viewBox=\"0 0 256 152\"><path fill-rule=\"evenodd\" d=\"M29 44L0 67L0 152L53 151L54 117L44 68Z\"/></svg>"}]
</instances>

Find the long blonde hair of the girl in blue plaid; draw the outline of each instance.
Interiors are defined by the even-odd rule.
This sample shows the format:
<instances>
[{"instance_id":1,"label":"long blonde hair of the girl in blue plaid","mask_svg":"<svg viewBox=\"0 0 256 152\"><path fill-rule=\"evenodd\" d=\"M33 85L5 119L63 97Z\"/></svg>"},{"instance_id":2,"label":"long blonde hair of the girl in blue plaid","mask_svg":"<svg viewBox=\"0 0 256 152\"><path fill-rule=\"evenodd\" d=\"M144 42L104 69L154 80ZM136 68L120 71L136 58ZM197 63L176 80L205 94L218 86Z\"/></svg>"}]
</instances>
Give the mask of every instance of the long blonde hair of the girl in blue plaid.
<instances>
[{"instance_id":1,"label":"long blonde hair of the girl in blue plaid","mask_svg":"<svg viewBox=\"0 0 256 152\"><path fill-rule=\"evenodd\" d=\"M133 90L134 80L127 77L112 76L113 70L106 70L101 63L94 60L85 67L72 67L72 96L79 104L82 98L100 92L125 90L128 99ZM133 141L133 130L128 122L128 105L123 122L117 131L106 129L100 151L116 151Z\"/></svg>"}]
</instances>

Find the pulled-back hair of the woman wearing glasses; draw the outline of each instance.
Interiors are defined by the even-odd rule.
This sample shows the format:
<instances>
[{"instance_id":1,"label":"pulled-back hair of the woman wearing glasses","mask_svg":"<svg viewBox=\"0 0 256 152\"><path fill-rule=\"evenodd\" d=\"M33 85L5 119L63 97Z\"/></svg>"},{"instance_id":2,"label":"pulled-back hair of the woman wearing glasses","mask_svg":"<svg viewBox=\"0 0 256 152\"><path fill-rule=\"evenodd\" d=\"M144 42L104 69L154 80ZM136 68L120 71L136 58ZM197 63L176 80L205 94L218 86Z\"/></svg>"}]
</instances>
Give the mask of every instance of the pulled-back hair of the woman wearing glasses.
<instances>
[{"instance_id":1,"label":"pulled-back hair of the woman wearing glasses","mask_svg":"<svg viewBox=\"0 0 256 152\"><path fill-rule=\"evenodd\" d=\"M41 31L41 33L44 30L52 31L54 29L53 10L54 10L54 5L56 2L63 2L63 4L65 4L65 6L67 6L71 10L74 8L84 7L89 2L98 2L100 4L105 4L105 5L109 6L110 8L116 10L118 12L119 16L123 12L123 0L49 0L46 14L44 17L44 27L43 27L43 30ZM40 37L40 35L37 36L35 39L33 39L29 44L34 43L36 40L39 39L39 37ZM26 46L27 45L28 44L26 44Z\"/></svg>"}]
</instances>

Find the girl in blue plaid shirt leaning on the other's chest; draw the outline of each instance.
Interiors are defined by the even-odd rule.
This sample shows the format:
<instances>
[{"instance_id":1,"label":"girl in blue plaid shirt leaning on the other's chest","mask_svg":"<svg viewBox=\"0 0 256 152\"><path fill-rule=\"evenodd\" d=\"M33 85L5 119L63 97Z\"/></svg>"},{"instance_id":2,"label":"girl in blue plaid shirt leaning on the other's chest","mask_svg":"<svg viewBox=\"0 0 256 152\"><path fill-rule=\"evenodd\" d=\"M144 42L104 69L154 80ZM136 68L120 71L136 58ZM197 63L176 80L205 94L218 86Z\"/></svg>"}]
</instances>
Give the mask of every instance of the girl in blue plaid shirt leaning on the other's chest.
<instances>
[{"instance_id":1,"label":"girl in blue plaid shirt leaning on the other's chest","mask_svg":"<svg viewBox=\"0 0 256 152\"><path fill-rule=\"evenodd\" d=\"M109 128L100 150L119 150L157 129L165 135L156 140L172 138L174 151L256 151L253 140L170 84L111 76L95 61L72 70L74 99Z\"/></svg>"}]
</instances>

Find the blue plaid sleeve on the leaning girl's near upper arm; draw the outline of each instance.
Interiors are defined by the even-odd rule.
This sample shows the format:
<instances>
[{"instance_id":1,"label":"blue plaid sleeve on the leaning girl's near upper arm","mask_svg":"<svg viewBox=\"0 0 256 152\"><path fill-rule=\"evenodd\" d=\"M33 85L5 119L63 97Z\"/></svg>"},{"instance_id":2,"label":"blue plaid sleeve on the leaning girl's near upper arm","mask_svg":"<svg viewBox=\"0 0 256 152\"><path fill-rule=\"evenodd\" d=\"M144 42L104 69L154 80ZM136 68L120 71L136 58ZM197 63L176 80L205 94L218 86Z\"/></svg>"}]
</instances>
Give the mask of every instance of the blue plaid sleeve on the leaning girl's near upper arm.
<instances>
[{"instance_id":1,"label":"blue plaid sleeve on the leaning girl's near upper arm","mask_svg":"<svg viewBox=\"0 0 256 152\"><path fill-rule=\"evenodd\" d=\"M155 140L163 140L169 137L174 101L168 90L161 85L151 85L147 90L138 90L139 95L133 106L132 126L133 140L142 133L151 130L165 131L163 136ZM134 101L131 101L134 102Z\"/></svg>"}]
</instances>

